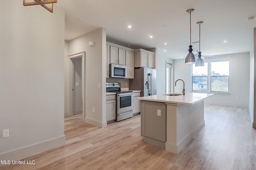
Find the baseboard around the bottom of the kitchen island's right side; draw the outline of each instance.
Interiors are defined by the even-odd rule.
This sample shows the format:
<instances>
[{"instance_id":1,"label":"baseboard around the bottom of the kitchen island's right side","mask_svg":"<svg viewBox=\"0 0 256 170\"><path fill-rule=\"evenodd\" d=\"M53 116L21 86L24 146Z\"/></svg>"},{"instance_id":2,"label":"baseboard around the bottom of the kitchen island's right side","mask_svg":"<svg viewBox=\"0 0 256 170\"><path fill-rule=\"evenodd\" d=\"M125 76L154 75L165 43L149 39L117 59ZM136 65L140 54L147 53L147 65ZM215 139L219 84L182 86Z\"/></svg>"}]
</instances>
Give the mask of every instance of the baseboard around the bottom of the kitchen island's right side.
<instances>
[{"instance_id":1,"label":"baseboard around the bottom of the kitchen island's right side","mask_svg":"<svg viewBox=\"0 0 256 170\"><path fill-rule=\"evenodd\" d=\"M188 142L194 137L194 135L196 135L200 129L202 129L202 127L204 127L205 122L202 121L199 125L197 125L188 135L186 135L178 144L176 145L172 145L170 143L165 143L165 150L178 154L180 152L180 150L182 150L187 144Z\"/></svg>"}]
</instances>

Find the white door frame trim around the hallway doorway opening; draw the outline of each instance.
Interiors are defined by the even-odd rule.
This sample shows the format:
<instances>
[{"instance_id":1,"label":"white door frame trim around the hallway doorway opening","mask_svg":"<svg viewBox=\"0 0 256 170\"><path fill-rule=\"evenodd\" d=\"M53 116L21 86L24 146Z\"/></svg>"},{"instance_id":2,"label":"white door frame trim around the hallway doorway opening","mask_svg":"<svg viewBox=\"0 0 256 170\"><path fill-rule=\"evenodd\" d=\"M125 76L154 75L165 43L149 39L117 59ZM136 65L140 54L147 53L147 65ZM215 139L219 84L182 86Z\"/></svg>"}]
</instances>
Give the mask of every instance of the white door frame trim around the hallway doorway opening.
<instances>
[{"instance_id":1,"label":"white door frame trim around the hallway doorway opening","mask_svg":"<svg viewBox=\"0 0 256 170\"><path fill-rule=\"evenodd\" d=\"M82 103L83 103L83 121L84 118L86 117L85 115L85 82L86 82L86 78L85 78L85 51L80 52L80 53L76 53L76 54L72 54L72 55L68 55L68 58L70 59L69 61L69 65L70 65L70 78L69 78L69 116L74 115L74 91L72 89L74 89L74 64L72 63L72 59L76 59L82 57Z\"/></svg>"}]
</instances>

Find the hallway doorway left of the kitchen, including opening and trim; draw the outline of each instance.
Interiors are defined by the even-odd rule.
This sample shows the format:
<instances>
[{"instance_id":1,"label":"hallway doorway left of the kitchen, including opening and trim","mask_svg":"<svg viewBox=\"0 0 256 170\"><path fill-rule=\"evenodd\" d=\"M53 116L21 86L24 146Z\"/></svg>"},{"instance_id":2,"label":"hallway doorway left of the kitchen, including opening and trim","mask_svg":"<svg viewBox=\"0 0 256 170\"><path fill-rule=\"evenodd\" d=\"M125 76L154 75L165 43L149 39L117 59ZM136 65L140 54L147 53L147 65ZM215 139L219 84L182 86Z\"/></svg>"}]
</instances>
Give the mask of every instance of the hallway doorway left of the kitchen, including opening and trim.
<instances>
[{"instance_id":1,"label":"hallway doorway left of the kitchen, including opening and trim","mask_svg":"<svg viewBox=\"0 0 256 170\"><path fill-rule=\"evenodd\" d=\"M70 59L69 116L82 113L85 117L85 52L68 56Z\"/></svg>"}]
</instances>

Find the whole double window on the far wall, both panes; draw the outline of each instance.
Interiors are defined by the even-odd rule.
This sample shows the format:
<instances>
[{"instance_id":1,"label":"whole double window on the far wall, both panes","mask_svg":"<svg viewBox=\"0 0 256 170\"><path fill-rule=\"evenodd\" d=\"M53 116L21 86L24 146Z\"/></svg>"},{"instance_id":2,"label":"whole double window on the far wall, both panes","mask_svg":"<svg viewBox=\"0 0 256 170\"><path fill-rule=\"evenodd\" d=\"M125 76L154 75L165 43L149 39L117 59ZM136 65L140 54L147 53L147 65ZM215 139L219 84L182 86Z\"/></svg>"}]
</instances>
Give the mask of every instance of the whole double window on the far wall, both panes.
<instances>
[{"instance_id":1,"label":"whole double window on the far wall, both panes","mask_svg":"<svg viewBox=\"0 0 256 170\"><path fill-rule=\"evenodd\" d=\"M229 61L210 61L203 67L192 64L192 91L229 92Z\"/></svg>"}]
</instances>

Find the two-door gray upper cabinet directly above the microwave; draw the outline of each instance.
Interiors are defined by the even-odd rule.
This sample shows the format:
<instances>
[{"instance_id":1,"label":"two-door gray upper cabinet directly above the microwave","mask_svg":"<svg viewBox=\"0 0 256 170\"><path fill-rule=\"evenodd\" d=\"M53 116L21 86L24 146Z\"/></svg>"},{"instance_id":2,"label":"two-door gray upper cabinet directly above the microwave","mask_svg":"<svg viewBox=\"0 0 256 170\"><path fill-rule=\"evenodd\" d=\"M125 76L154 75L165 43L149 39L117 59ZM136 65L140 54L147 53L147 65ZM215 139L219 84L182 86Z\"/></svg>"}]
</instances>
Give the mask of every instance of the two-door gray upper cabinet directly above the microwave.
<instances>
[{"instance_id":1,"label":"two-door gray upper cabinet directly above the microwave","mask_svg":"<svg viewBox=\"0 0 256 170\"><path fill-rule=\"evenodd\" d=\"M126 65L126 53L125 49L110 46L110 63Z\"/></svg>"}]
</instances>

